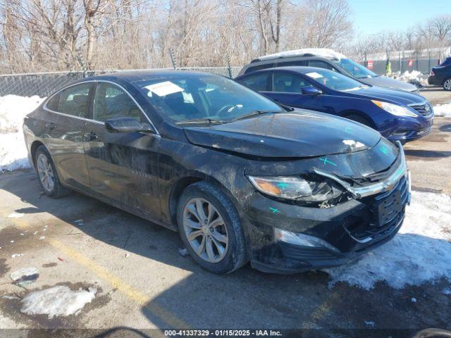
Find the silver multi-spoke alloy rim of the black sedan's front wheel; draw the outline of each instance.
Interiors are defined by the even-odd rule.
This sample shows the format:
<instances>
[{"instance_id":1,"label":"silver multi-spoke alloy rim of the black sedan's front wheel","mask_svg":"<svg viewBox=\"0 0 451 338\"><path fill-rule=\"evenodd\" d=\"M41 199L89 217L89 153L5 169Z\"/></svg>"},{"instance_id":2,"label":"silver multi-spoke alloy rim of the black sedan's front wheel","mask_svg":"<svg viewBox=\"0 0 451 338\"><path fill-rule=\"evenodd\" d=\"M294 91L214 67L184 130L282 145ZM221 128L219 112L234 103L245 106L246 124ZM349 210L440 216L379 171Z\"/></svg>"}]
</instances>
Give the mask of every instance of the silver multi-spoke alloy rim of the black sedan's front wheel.
<instances>
[{"instance_id":1,"label":"silver multi-spoke alloy rim of the black sedan's front wheel","mask_svg":"<svg viewBox=\"0 0 451 338\"><path fill-rule=\"evenodd\" d=\"M228 250L226 224L205 199L191 199L183 209L183 230L194 252L209 263L223 260Z\"/></svg>"}]
</instances>

